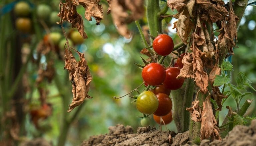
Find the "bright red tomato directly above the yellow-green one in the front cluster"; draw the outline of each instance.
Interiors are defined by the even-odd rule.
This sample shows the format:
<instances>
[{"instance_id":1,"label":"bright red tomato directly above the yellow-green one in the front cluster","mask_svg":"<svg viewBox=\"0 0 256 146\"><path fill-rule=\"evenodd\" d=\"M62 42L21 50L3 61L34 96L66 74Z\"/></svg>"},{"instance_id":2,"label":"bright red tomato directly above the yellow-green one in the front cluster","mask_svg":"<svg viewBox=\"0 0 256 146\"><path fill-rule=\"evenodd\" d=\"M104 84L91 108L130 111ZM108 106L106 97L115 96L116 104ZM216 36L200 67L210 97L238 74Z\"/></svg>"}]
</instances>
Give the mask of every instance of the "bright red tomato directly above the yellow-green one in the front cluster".
<instances>
[{"instance_id":1,"label":"bright red tomato directly above the yellow-green one in the front cluster","mask_svg":"<svg viewBox=\"0 0 256 146\"><path fill-rule=\"evenodd\" d=\"M142 69L142 78L149 85L160 85L165 79L164 67L159 63L149 63Z\"/></svg>"}]
</instances>

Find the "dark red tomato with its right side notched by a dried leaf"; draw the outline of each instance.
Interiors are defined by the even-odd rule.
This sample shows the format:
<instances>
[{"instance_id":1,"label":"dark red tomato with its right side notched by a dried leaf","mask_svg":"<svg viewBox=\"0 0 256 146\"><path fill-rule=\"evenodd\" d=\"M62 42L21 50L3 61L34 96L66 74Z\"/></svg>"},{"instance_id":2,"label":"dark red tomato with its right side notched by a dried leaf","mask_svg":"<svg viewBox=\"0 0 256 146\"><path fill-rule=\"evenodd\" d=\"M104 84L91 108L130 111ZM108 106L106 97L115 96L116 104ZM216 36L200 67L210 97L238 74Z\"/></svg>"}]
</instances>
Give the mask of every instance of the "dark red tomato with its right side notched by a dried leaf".
<instances>
[{"instance_id":1,"label":"dark red tomato with its right side notched by a dried leaf","mask_svg":"<svg viewBox=\"0 0 256 146\"><path fill-rule=\"evenodd\" d=\"M166 69L166 78L164 80L164 86L170 90L179 89L183 83L184 79L176 79L176 77L180 74L180 69L177 67L169 67Z\"/></svg>"}]
</instances>

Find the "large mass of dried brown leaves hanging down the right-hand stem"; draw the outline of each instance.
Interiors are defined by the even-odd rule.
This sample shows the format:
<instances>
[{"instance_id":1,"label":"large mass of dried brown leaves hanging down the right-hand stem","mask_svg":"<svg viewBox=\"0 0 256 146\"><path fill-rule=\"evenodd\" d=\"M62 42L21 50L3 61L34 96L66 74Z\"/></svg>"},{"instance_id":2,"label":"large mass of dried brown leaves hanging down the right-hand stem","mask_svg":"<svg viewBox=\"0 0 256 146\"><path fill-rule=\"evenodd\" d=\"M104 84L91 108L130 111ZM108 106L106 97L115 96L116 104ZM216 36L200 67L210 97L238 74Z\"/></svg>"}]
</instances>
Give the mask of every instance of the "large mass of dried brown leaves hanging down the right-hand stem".
<instances>
[{"instance_id":1,"label":"large mass of dried brown leaves hanging down the right-hand stem","mask_svg":"<svg viewBox=\"0 0 256 146\"><path fill-rule=\"evenodd\" d=\"M191 51L183 57L184 66L178 78L193 78L200 91L207 94L208 85L213 86L215 76L220 74L220 59L225 58L227 53L233 55L237 17L232 1L229 10L224 7L222 0L168 0L167 4L172 10L178 11L174 15L178 19L174 23L178 36L183 43L191 44ZM192 19L196 21L193 23ZM220 32L217 41L213 39L213 23L217 24L217 31ZM210 32L206 24L209 25ZM218 87L213 87L212 96L219 106L216 110L221 110L221 101L226 96L221 94ZM202 110L199 101L194 101L193 107L187 110L191 112L192 120L201 122L201 139L221 139L210 96L203 102Z\"/></svg>"}]
</instances>

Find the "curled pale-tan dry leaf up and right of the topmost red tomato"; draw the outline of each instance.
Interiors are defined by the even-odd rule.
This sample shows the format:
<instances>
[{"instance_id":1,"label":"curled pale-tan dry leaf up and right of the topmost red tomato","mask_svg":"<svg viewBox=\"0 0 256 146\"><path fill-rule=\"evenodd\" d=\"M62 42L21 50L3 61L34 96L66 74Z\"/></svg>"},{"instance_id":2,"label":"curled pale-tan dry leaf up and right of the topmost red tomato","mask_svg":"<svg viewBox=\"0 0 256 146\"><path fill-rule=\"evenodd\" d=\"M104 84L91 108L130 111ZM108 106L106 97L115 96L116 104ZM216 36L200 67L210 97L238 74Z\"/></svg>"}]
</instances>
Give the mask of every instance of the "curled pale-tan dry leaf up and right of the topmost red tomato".
<instances>
[{"instance_id":1,"label":"curled pale-tan dry leaf up and right of the topmost red tomato","mask_svg":"<svg viewBox=\"0 0 256 146\"><path fill-rule=\"evenodd\" d=\"M176 28L177 35L183 43L187 44L188 36L194 28L193 22L190 20L190 15L187 9L183 9L178 15L178 21L174 22L173 29Z\"/></svg>"}]
</instances>

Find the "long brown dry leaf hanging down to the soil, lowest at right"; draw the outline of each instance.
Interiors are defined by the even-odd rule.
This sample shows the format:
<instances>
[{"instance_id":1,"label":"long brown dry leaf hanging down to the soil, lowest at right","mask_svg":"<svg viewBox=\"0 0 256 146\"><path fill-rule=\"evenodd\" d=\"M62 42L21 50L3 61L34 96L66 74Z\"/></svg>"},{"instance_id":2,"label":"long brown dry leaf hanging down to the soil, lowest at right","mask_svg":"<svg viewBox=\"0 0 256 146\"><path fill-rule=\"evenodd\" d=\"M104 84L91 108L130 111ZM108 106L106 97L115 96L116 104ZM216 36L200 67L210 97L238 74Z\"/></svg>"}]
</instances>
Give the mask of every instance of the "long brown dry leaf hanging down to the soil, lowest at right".
<instances>
[{"instance_id":1,"label":"long brown dry leaf hanging down to the soil, lowest at right","mask_svg":"<svg viewBox=\"0 0 256 146\"><path fill-rule=\"evenodd\" d=\"M219 135L220 130L217 127L217 121L213 114L210 98L211 96L208 96L205 99L205 102L203 102L200 139L203 140L211 138L211 140L221 140L221 137Z\"/></svg>"}]
</instances>

